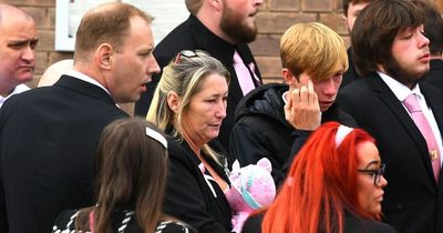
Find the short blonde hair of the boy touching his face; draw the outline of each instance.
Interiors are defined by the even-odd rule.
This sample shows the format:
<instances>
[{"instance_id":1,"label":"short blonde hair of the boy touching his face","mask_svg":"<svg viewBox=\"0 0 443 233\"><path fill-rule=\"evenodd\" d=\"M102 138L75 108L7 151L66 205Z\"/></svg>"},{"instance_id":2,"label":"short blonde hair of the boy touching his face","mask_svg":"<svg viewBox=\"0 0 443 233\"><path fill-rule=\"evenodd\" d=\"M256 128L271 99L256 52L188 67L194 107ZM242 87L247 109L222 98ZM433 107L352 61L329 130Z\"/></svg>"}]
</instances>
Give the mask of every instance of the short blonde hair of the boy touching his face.
<instances>
[{"instance_id":1,"label":"short blonde hair of the boy touching his face","mask_svg":"<svg viewBox=\"0 0 443 233\"><path fill-rule=\"evenodd\" d=\"M343 39L330 28L319 23L297 23L280 40L284 68L298 77L307 72L315 81L348 70L348 54Z\"/></svg>"}]
</instances>

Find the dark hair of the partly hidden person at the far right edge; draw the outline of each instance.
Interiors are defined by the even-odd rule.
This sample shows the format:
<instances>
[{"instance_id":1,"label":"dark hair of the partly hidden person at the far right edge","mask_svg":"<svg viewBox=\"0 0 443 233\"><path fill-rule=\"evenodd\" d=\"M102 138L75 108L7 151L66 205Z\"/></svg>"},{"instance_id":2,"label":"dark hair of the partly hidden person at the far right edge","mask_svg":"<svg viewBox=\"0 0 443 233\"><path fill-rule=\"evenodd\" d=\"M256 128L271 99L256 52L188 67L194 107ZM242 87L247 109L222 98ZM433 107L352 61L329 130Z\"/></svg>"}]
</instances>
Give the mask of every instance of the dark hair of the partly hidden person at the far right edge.
<instances>
[{"instance_id":1,"label":"dark hair of the partly hidden person at the far right edge","mask_svg":"<svg viewBox=\"0 0 443 233\"><path fill-rule=\"evenodd\" d=\"M423 11L424 36L430 40L430 51L433 55L443 52L443 18L436 10L436 6L429 0L412 0Z\"/></svg>"}]
</instances>

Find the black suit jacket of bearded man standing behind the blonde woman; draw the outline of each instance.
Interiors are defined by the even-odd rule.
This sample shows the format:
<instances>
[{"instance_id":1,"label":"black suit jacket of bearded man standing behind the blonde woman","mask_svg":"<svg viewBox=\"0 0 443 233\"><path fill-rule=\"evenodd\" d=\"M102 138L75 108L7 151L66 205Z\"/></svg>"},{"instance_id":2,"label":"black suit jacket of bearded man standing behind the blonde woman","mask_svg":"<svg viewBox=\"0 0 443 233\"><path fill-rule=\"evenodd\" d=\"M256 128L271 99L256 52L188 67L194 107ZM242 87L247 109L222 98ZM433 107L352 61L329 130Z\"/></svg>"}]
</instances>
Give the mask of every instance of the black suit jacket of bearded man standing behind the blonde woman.
<instances>
[{"instance_id":1,"label":"black suit jacket of bearded man standing behind the blonde woman","mask_svg":"<svg viewBox=\"0 0 443 233\"><path fill-rule=\"evenodd\" d=\"M175 28L169 34L164 38L158 45L154 49L154 57L161 68L166 67L177 53L182 50L205 50L212 57L219 60L230 73L229 94L227 104L227 116L223 121L220 134L218 140L227 149L229 148L229 133L234 126L234 114L237 103L243 98L240 84L237 80L237 74L233 65L233 57L235 49L237 49L241 59L246 64L253 62L255 64L255 73L260 77L257 64L254 60L247 44L230 44L212 31L209 31L197 18L189 16L189 18ZM151 105L153 93L158 84L161 75L153 77L153 81L147 83L147 91L142 94L140 101L135 103L135 114L146 116L147 110Z\"/></svg>"}]
</instances>

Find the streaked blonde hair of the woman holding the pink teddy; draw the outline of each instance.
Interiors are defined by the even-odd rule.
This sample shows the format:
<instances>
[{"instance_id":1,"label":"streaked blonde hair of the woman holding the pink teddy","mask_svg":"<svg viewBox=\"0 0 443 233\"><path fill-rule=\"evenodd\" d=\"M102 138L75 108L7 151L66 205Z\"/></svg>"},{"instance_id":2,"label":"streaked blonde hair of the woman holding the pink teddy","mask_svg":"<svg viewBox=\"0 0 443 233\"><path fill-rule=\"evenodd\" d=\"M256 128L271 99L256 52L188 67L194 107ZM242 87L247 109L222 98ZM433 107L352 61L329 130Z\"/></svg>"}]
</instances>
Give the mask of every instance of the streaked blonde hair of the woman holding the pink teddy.
<instances>
[{"instance_id":1,"label":"streaked blonde hair of the woman holding the pink teddy","mask_svg":"<svg viewBox=\"0 0 443 233\"><path fill-rule=\"evenodd\" d=\"M154 122L161 130L169 131L169 134L183 140L179 132L183 115L189 108L192 98L202 89L206 77L217 73L226 78L229 83L229 72L217 59L197 52L197 57L179 57L179 61L173 61L163 69L162 78L154 92L154 97L147 111L146 120ZM173 112L167 104L167 94L175 92L181 99L177 113ZM203 152L220 164L219 155L207 144L203 145Z\"/></svg>"}]
</instances>

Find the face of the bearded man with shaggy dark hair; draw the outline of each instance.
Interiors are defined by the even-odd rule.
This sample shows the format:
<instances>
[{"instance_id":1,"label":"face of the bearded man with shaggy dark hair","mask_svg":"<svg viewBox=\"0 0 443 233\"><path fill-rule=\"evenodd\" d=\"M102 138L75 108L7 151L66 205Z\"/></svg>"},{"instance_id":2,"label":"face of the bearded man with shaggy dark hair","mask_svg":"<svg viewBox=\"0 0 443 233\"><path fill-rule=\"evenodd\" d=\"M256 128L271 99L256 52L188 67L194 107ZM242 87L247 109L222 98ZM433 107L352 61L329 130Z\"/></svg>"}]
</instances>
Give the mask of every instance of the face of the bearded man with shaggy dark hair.
<instances>
[{"instance_id":1,"label":"face of the bearded man with shaggy dark hair","mask_svg":"<svg viewBox=\"0 0 443 233\"><path fill-rule=\"evenodd\" d=\"M423 26L400 31L391 47L392 58L382 64L383 72L408 87L430 69L430 41L423 31Z\"/></svg>"}]
</instances>

